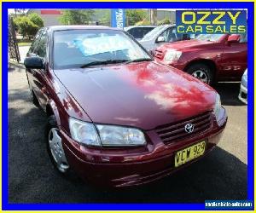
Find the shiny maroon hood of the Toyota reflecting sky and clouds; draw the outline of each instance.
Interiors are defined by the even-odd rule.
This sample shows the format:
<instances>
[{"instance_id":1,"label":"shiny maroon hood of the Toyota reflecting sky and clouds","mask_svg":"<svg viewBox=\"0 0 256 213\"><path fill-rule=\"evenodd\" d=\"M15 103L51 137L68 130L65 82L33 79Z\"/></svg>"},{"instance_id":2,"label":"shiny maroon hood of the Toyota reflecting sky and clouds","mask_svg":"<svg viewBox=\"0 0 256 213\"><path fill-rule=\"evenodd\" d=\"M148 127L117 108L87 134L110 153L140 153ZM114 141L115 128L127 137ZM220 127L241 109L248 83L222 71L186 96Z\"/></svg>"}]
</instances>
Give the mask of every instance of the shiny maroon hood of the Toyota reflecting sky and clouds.
<instances>
[{"instance_id":1,"label":"shiny maroon hood of the Toyota reflecting sky and clouds","mask_svg":"<svg viewBox=\"0 0 256 213\"><path fill-rule=\"evenodd\" d=\"M55 70L95 123L152 130L212 110L216 92L156 61Z\"/></svg>"}]
</instances>

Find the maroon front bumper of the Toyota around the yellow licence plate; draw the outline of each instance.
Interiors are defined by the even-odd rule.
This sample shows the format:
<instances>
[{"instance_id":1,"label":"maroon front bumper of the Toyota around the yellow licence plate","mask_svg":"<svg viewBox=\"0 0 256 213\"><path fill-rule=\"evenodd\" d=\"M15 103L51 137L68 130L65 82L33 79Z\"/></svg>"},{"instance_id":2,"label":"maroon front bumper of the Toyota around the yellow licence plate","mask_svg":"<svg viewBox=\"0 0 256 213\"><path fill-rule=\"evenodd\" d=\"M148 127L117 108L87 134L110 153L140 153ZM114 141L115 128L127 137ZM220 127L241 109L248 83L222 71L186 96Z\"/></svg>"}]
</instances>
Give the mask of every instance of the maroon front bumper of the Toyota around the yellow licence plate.
<instances>
[{"instance_id":1,"label":"maroon front bumper of the Toyota around the yellow licence plate","mask_svg":"<svg viewBox=\"0 0 256 213\"><path fill-rule=\"evenodd\" d=\"M215 147L223 134L227 116L222 108L221 118L214 122L212 130L184 141L164 144L154 130L147 131L146 147L90 148L73 141L63 130L61 138L67 162L79 176L96 184L113 187L128 187L160 179L194 162L174 167L178 150L198 141L207 141L205 154ZM204 155L205 155L204 154ZM200 157L201 158L201 157Z\"/></svg>"}]
</instances>

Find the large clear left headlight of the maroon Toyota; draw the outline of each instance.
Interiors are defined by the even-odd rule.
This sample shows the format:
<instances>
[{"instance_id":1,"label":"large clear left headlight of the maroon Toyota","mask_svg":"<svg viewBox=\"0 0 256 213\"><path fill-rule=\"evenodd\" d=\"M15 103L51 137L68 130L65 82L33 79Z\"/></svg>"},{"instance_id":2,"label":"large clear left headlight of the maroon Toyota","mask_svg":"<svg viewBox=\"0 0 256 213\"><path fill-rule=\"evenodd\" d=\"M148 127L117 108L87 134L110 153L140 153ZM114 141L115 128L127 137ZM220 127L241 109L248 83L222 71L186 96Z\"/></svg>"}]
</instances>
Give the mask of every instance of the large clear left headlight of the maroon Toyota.
<instances>
[{"instance_id":1,"label":"large clear left headlight of the maroon Toyota","mask_svg":"<svg viewBox=\"0 0 256 213\"><path fill-rule=\"evenodd\" d=\"M69 119L74 140L89 146L141 146L146 143L144 134L135 128L114 125L91 124L74 118Z\"/></svg>"}]
</instances>

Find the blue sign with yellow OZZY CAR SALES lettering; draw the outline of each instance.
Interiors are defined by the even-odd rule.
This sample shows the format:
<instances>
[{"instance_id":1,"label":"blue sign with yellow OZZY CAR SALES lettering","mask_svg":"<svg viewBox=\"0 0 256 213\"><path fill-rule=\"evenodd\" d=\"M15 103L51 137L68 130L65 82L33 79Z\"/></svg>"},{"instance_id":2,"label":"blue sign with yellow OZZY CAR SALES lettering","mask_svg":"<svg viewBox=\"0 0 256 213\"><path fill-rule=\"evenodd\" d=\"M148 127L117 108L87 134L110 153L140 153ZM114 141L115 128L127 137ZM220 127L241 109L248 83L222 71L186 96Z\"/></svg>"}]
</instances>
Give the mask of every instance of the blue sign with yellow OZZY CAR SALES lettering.
<instances>
[{"instance_id":1,"label":"blue sign with yellow OZZY CAR SALES lettering","mask_svg":"<svg viewBox=\"0 0 256 213\"><path fill-rule=\"evenodd\" d=\"M247 33L245 10L177 10L177 33Z\"/></svg>"}]
</instances>

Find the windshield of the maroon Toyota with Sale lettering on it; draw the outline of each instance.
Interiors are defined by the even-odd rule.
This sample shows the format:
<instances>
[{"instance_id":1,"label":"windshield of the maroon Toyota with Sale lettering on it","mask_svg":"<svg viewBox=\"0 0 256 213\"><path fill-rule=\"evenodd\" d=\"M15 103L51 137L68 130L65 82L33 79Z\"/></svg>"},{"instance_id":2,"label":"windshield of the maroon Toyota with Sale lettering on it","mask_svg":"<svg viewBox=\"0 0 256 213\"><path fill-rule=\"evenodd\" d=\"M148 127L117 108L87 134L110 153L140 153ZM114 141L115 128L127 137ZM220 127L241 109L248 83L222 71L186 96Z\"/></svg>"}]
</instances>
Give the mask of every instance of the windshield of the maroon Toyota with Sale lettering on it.
<instances>
[{"instance_id":1,"label":"windshield of the maroon Toyota with Sale lettering on it","mask_svg":"<svg viewBox=\"0 0 256 213\"><path fill-rule=\"evenodd\" d=\"M67 30L54 32L54 68L150 60L129 36L116 30Z\"/></svg>"}]
</instances>

